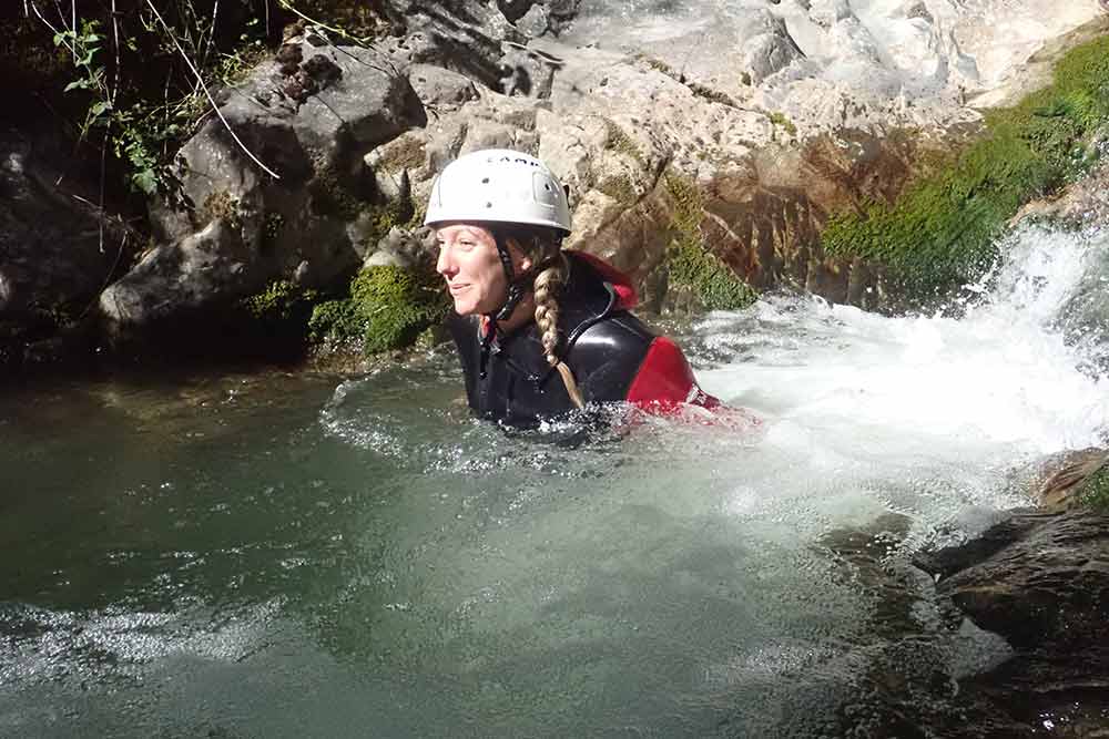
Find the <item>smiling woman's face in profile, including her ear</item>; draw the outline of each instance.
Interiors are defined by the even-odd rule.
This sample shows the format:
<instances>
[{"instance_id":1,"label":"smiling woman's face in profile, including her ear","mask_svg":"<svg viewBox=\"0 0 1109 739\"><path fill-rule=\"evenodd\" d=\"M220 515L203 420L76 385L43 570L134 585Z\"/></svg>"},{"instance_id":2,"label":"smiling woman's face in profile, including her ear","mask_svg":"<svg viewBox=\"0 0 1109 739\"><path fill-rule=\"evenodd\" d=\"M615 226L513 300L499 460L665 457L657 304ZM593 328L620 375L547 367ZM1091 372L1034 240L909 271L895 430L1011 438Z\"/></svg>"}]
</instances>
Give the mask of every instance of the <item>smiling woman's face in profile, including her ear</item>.
<instances>
[{"instance_id":1,"label":"smiling woman's face in profile, including her ear","mask_svg":"<svg viewBox=\"0 0 1109 739\"><path fill-rule=\"evenodd\" d=\"M439 259L435 268L447 281L455 312L475 316L499 309L508 295L508 284L492 233L472 224L451 224L436 229L436 240ZM511 243L508 252L517 274L531 266Z\"/></svg>"}]
</instances>

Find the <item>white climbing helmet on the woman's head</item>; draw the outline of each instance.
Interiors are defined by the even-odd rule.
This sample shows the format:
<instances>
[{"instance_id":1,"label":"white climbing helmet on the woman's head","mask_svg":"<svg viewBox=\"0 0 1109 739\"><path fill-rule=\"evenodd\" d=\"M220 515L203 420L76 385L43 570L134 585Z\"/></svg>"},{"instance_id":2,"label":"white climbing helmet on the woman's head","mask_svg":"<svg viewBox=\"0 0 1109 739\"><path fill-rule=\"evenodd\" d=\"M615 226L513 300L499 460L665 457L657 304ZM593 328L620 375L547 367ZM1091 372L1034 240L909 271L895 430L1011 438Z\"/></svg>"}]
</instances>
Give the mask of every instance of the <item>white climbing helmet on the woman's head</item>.
<instances>
[{"instance_id":1,"label":"white climbing helmet on the woman's head","mask_svg":"<svg viewBox=\"0 0 1109 739\"><path fill-rule=\"evenodd\" d=\"M425 226L447 220L550 226L570 233L566 191L547 165L508 148L464 154L431 185Z\"/></svg>"}]
</instances>

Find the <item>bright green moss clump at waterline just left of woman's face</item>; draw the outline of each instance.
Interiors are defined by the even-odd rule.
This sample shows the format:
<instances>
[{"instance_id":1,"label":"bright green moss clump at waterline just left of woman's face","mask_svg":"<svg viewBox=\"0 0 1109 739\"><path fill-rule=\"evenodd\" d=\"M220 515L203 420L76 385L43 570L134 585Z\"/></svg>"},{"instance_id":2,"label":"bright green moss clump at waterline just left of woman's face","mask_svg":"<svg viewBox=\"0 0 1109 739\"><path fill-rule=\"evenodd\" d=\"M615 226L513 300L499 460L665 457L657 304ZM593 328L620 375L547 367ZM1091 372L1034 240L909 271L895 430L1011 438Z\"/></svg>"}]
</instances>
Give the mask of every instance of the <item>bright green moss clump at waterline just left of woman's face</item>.
<instances>
[{"instance_id":1,"label":"bright green moss clump at waterline just left of woman's face","mask_svg":"<svg viewBox=\"0 0 1109 739\"><path fill-rule=\"evenodd\" d=\"M350 283L350 297L316 306L308 321L314 341L360 341L365 353L411 345L442 319L447 301L431 275L394 266L367 267Z\"/></svg>"}]
</instances>

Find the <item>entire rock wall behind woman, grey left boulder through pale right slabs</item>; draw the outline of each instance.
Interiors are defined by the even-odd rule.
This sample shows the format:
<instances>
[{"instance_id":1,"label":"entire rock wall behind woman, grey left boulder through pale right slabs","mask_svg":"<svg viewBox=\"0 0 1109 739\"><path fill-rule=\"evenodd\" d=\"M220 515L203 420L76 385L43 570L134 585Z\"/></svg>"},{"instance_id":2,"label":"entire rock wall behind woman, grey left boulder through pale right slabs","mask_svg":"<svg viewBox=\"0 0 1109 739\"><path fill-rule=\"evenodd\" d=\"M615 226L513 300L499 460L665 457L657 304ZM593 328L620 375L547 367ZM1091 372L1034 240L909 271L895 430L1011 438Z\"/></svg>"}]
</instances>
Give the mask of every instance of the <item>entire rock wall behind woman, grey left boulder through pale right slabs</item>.
<instances>
[{"instance_id":1,"label":"entire rock wall behind woman, grey left boulder through pale right slabs","mask_svg":"<svg viewBox=\"0 0 1109 739\"><path fill-rule=\"evenodd\" d=\"M210 120L181 153L187 207L153 208L157 247L100 301L113 327L275 279L333 285L418 216L449 161L487 146L547 161L570 188L568 246L631 273L648 307L699 306L671 268L681 244L759 289L878 307L879 268L822 253L828 215L896 196L974 129L968 101L1016 84L1038 44L1101 12L1097 0L1052 13L1041 0L381 8L396 34L373 48L308 27L223 93L231 130L279 179Z\"/></svg>"}]
</instances>

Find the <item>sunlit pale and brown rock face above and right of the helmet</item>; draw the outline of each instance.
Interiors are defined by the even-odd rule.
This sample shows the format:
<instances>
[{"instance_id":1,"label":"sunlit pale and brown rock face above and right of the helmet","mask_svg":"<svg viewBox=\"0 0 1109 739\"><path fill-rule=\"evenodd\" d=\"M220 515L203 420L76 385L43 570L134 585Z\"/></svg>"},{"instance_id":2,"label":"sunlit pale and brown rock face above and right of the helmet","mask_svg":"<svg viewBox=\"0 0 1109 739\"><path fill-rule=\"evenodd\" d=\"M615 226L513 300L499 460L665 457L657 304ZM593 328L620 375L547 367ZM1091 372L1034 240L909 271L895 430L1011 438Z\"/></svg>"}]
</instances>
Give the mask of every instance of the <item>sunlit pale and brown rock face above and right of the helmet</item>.
<instances>
[{"instance_id":1,"label":"sunlit pale and brown rock face above and right of the helmet","mask_svg":"<svg viewBox=\"0 0 1109 739\"><path fill-rule=\"evenodd\" d=\"M690 230L756 288L792 285L877 307L888 290L879 268L821 252L828 214L895 197L929 152L973 131L980 116L968 101L1009 84L1038 44L1100 13L1095 0L1048 16L1032 1L905 3L892 13L879 4L634 13L584 2L557 39L540 31L526 47L527 29L487 23L486 38L503 31L503 76L475 78L478 100L434 116L374 163L391 181L407 176L419 203L459 153L538 154L570 186L570 246L631 271L641 291L662 296L654 307L675 305L667 247ZM526 6L501 10L519 22L533 10ZM438 104L431 94L425 102ZM696 193L695 223L675 182Z\"/></svg>"}]
</instances>

